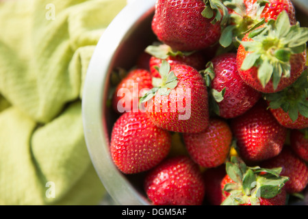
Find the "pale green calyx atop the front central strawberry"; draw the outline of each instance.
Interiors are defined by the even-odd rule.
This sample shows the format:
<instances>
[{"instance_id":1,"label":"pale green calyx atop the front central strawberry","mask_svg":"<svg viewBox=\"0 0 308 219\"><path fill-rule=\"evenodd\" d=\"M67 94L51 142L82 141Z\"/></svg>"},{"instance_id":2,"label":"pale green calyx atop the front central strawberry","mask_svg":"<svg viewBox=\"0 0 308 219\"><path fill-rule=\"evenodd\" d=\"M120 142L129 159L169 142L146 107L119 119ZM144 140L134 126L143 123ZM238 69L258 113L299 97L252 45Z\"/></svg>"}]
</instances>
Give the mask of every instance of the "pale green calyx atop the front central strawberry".
<instances>
[{"instance_id":1,"label":"pale green calyx atop the front central strawberry","mask_svg":"<svg viewBox=\"0 0 308 219\"><path fill-rule=\"evenodd\" d=\"M172 70L170 71L170 64L166 60L162 60L162 65L157 70L161 78L152 78L153 88L140 98L140 103L149 101L156 93L162 96L168 96L171 90L177 87L178 78Z\"/></svg>"}]
</instances>

